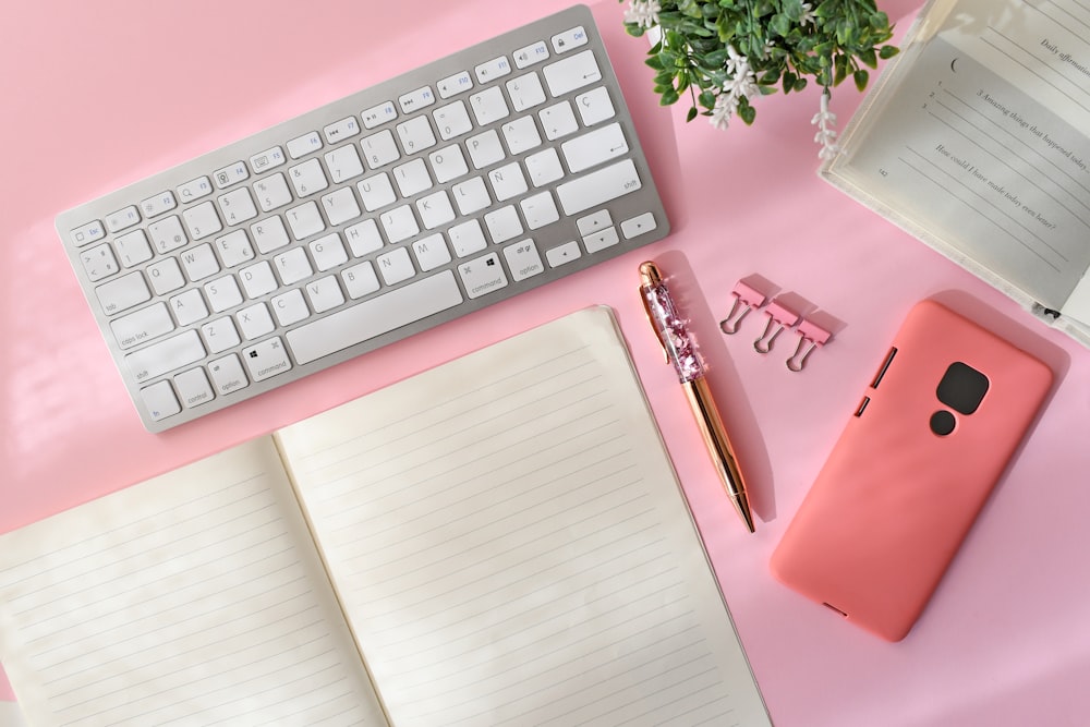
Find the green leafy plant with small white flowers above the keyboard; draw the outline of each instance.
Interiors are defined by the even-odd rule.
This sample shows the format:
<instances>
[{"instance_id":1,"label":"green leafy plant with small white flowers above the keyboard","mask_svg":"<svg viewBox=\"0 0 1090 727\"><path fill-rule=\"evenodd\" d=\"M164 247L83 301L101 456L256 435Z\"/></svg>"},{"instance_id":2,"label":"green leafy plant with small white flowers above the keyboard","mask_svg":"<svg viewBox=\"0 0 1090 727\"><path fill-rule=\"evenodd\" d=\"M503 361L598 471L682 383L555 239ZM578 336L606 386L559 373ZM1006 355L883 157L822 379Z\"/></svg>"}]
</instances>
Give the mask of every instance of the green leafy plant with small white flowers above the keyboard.
<instances>
[{"instance_id":1,"label":"green leafy plant with small white flowers above the keyboard","mask_svg":"<svg viewBox=\"0 0 1090 727\"><path fill-rule=\"evenodd\" d=\"M823 158L836 152L831 89L850 76L863 90L879 60L898 52L885 45L893 27L874 0L629 0L625 26L653 34L655 93L663 106L688 95L688 121L751 124L759 96L802 90L812 78L824 89L813 118Z\"/></svg>"}]
</instances>

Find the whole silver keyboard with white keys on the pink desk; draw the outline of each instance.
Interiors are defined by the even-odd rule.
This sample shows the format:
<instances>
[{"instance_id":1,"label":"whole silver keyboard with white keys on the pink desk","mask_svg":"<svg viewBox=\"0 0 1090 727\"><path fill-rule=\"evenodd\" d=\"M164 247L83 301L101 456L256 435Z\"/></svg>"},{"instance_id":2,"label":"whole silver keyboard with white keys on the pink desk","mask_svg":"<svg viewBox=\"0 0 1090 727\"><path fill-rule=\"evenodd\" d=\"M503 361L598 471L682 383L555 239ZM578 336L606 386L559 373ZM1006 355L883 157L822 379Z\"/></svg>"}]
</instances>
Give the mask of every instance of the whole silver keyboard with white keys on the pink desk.
<instances>
[{"instance_id":1,"label":"whole silver keyboard with white keys on the pink desk","mask_svg":"<svg viewBox=\"0 0 1090 727\"><path fill-rule=\"evenodd\" d=\"M668 227L582 5L57 217L152 432Z\"/></svg>"}]
</instances>

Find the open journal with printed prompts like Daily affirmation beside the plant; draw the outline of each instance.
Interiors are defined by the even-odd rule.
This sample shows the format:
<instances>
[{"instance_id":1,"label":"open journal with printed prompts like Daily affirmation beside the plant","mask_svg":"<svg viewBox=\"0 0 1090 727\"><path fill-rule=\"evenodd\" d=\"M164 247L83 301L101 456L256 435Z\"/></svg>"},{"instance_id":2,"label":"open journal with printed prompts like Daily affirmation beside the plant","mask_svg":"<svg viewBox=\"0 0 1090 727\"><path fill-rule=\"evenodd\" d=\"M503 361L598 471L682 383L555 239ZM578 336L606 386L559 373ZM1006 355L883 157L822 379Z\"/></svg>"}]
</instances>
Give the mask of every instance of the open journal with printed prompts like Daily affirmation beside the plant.
<instances>
[{"instance_id":1,"label":"open journal with printed prompts like Daily affirmation beside the plant","mask_svg":"<svg viewBox=\"0 0 1090 727\"><path fill-rule=\"evenodd\" d=\"M930 0L822 174L1090 346L1090 4Z\"/></svg>"}]
</instances>

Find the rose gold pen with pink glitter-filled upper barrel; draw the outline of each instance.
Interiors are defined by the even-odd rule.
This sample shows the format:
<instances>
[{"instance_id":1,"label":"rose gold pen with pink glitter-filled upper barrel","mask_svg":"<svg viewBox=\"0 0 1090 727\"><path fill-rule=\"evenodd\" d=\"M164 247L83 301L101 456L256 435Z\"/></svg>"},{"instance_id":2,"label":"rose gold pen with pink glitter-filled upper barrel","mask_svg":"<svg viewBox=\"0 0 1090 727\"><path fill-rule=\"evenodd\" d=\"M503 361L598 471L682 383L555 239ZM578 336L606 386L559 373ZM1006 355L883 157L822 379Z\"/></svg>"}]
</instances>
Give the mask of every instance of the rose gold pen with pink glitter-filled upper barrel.
<instances>
[{"instance_id":1,"label":"rose gold pen with pink glitter-filled upper barrel","mask_svg":"<svg viewBox=\"0 0 1090 727\"><path fill-rule=\"evenodd\" d=\"M681 388L685 389L689 407L697 419L697 426L704 437L704 446L719 472L727 496L752 533L753 514L746 495L746 481L738 469L738 460L735 459L727 429L715 408L707 379L704 378L704 365L697 355L685 320L678 315L674 299L666 289L662 271L650 260L640 266L640 294L647 311L647 319L658 336L658 342L663 344L666 361L673 363L677 371Z\"/></svg>"}]
</instances>

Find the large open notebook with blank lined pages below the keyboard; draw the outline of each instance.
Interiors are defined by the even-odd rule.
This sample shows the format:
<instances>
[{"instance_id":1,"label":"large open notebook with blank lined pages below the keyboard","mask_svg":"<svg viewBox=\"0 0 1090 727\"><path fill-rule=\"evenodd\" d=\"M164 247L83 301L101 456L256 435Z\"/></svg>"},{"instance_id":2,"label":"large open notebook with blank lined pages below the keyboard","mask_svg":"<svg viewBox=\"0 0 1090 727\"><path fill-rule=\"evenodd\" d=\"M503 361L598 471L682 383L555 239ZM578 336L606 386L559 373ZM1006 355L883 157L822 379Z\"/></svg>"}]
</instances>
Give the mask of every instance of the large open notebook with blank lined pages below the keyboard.
<instances>
[{"instance_id":1,"label":"large open notebook with blank lined pages below the keyboard","mask_svg":"<svg viewBox=\"0 0 1090 727\"><path fill-rule=\"evenodd\" d=\"M761 725L608 308L0 536L31 724Z\"/></svg>"}]
</instances>

